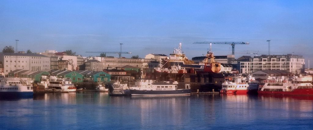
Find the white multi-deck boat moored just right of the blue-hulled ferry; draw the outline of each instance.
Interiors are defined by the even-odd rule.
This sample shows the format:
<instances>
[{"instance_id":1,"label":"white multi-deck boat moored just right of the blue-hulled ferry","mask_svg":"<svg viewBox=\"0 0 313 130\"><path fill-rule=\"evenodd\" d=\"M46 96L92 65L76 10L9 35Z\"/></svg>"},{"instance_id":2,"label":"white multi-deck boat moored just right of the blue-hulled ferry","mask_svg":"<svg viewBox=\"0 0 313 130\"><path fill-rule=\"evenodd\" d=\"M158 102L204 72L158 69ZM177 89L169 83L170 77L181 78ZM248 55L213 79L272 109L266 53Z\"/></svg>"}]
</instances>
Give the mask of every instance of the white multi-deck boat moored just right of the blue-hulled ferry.
<instances>
[{"instance_id":1,"label":"white multi-deck boat moored just right of the blue-hulled ferry","mask_svg":"<svg viewBox=\"0 0 313 130\"><path fill-rule=\"evenodd\" d=\"M49 77L47 92L69 93L76 92L76 87L72 84L71 79L57 78L56 76Z\"/></svg>"}]
</instances>

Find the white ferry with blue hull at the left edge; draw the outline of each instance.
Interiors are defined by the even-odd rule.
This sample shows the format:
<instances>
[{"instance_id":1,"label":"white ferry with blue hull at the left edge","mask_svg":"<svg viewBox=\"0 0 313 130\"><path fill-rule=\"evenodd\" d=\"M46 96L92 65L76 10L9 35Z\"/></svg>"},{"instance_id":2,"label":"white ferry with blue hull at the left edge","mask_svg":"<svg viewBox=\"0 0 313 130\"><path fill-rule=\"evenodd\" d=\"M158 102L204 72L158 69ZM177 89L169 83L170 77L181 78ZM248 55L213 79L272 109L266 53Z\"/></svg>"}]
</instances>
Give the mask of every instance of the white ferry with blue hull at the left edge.
<instances>
[{"instance_id":1,"label":"white ferry with blue hull at the left edge","mask_svg":"<svg viewBox=\"0 0 313 130\"><path fill-rule=\"evenodd\" d=\"M33 86L20 78L0 77L0 96L33 96Z\"/></svg>"}]
</instances>

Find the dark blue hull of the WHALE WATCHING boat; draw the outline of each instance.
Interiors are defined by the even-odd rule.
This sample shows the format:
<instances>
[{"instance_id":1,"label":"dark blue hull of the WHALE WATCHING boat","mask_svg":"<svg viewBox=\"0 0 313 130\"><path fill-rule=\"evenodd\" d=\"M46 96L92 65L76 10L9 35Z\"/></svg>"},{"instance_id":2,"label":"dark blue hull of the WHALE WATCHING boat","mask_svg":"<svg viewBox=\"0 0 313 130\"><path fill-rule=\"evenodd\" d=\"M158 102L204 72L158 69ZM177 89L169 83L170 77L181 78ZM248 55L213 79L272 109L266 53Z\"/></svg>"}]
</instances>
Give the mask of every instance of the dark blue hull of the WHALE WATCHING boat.
<instances>
[{"instance_id":1,"label":"dark blue hull of the WHALE WATCHING boat","mask_svg":"<svg viewBox=\"0 0 313 130\"><path fill-rule=\"evenodd\" d=\"M179 90L135 90L130 89L132 96L167 96L167 95L187 95L191 93L191 89Z\"/></svg>"}]
</instances>

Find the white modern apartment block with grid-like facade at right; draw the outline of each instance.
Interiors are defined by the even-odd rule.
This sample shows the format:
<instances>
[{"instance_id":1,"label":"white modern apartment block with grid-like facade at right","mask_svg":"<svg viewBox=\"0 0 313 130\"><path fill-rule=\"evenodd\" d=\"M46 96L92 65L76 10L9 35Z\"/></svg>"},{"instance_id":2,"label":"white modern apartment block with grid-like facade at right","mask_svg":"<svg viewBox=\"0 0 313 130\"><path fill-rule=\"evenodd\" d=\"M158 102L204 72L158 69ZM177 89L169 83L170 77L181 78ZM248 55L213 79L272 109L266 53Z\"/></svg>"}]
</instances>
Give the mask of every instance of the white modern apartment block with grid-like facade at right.
<instances>
[{"instance_id":1,"label":"white modern apartment block with grid-like facade at right","mask_svg":"<svg viewBox=\"0 0 313 130\"><path fill-rule=\"evenodd\" d=\"M254 73L259 70L286 70L294 74L304 71L305 60L300 55L261 55L240 62L240 73Z\"/></svg>"}]
</instances>

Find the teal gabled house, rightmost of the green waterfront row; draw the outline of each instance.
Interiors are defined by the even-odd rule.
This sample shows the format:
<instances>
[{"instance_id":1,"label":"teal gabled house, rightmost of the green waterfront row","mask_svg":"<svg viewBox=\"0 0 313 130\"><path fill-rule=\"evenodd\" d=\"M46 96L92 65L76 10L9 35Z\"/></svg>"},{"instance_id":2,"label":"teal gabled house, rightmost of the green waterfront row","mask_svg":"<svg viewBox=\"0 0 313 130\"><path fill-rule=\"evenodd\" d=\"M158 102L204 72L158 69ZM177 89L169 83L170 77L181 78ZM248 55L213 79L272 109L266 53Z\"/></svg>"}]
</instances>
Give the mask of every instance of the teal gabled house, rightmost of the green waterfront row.
<instances>
[{"instance_id":1,"label":"teal gabled house, rightmost of the green waterfront row","mask_svg":"<svg viewBox=\"0 0 313 130\"><path fill-rule=\"evenodd\" d=\"M110 82L111 75L103 71L95 71L87 74L85 80L88 80L88 82Z\"/></svg>"}]
</instances>

